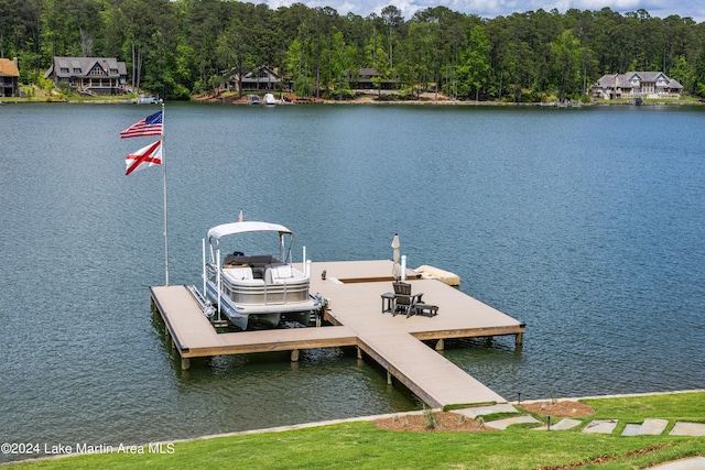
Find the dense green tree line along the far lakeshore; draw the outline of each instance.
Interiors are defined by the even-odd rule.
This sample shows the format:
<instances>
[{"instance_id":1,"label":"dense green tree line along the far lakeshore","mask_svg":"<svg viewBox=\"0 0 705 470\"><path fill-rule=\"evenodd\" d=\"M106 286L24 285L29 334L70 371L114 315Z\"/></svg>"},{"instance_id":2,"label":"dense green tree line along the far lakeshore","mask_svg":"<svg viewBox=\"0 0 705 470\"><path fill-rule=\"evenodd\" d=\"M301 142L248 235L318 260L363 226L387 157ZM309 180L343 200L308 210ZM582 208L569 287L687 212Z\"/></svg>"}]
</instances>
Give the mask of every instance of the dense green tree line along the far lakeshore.
<instances>
[{"instance_id":1,"label":"dense green tree line along the far lakeshore","mask_svg":"<svg viewBox=\"0 0 705 470\"><path fill-rule=\"evenodd\" d=\"M23 83L41 79L54 56L118 57L134 86L170 99L259 66L326 98L350 96L348 73L364 67L408 96L579 99L604 74L630 70L664 72L705 96L705 23L609 8L482 19L433 7L404 19L394 6L364 18L302 3L0 0L0 56L19 58Z\"/></svg>"}]
</instances>

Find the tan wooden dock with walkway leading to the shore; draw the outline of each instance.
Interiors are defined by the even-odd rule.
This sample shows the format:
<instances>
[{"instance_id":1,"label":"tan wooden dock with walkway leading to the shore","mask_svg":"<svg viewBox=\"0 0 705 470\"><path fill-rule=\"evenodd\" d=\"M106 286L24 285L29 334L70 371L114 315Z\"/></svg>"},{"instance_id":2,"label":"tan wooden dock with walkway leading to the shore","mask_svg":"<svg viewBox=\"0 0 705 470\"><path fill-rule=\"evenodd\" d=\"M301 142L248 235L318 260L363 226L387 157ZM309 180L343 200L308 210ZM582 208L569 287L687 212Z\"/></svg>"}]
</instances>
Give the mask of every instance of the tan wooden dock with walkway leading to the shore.
<instances>
[{"instance_id":1,"label":"tan wooden dock with walkway leading to the shore","mask_svg":"<svg viewBox=\"0 0 705 470\"><path fill-rule=\"evenodd\" d=\"M507 403L420 340L513 335L521 343L524 325L435 280L416 280L408 270L412 292L438 306L434 317L382 313L381 294L392 291L392 262L312 263L311 292L328 300L325 318L334 326L217 334L185 286L151 287L182 367L189 358L265 351L357 346L414 394L433 407ZM323 271L326 278L322 278Z\"/></svg>"}]
</instances>

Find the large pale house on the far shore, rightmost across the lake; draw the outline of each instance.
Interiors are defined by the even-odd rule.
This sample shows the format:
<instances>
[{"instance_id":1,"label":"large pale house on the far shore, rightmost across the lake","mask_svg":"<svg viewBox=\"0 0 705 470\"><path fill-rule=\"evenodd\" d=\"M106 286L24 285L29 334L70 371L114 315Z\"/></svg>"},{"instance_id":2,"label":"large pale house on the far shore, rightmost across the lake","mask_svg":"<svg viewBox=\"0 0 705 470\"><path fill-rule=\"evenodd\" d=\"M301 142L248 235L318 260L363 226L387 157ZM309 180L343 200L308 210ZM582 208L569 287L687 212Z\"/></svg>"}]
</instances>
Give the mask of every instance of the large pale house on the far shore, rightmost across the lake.
<instances>
[{"instance_id":1,"label":"large pale house on the far shore, rightmost across the lake","mask_svg":"<svg viewBox=\"0 0 705 470\"><path fill-rule=\"evenodd\" d=\"M663 72L608 74L593 85L593 97L603 99L680 98L683 85Z\"/></svg>"}]
</instances>

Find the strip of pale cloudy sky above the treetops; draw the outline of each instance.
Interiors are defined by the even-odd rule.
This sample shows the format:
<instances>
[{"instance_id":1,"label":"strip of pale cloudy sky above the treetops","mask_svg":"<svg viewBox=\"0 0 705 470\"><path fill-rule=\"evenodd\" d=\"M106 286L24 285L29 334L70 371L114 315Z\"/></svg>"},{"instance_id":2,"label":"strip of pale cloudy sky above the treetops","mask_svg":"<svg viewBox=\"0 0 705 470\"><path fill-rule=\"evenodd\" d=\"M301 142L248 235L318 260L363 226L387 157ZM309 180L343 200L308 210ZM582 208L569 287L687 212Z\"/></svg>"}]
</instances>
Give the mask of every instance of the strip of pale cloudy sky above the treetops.
<instances>
[{"instance_id":1,"label":"strip of pale cloudy sky above the treetops","mask_svg":"<svg viewBox=\"0 0 705 470\"><path fill-rule=\"evenodd\" d=\"M379 14L382 8L393 4L401 10L404 19L410 19L417 10L430 7L447 7L453 11L477 14L480 18L508 17L516 12L551 11L557 9L598 11L605 7L619 13L646 10L651 17L666 18L672 14L690 17L697 23L705 21L705 1L703 0L267 0L256 1L267 3L272 10L289 7L292 3L304 3L310 8L330 7L339 14L352 12L367 17L375 12Z\"/></svg>"}]
</instances>

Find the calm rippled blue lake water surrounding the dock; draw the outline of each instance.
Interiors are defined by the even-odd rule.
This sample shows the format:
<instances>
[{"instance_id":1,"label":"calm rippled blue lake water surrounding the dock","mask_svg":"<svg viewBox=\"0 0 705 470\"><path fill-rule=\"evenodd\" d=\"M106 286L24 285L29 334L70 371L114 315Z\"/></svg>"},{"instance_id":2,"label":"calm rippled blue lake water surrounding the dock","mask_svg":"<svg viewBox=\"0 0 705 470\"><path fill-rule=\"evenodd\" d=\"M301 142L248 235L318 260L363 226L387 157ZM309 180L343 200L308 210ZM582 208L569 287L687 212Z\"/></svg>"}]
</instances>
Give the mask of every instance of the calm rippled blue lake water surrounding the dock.
<instances>
[{"instance_id":1,"label":"calm rippled blue lake water surrounding the dock","mask_svg":"<svg viewBox=\"0 0 705 470\"><path fill-rule=\"evenodd\" d=\"M156 107L0 108L0 441L144 444L422 403L344 349L180 370L150 313L162 171L124 176ZM218 223L279 222L295 252L458 274L527 323L452 343L508 400L705 387L701 107L166 107L170 282L199 284ZM442 313L441 313L442 314ZM22 456L0 456L1 461Z\"/></svg>"}]
</instances>

